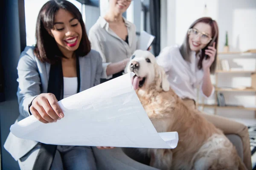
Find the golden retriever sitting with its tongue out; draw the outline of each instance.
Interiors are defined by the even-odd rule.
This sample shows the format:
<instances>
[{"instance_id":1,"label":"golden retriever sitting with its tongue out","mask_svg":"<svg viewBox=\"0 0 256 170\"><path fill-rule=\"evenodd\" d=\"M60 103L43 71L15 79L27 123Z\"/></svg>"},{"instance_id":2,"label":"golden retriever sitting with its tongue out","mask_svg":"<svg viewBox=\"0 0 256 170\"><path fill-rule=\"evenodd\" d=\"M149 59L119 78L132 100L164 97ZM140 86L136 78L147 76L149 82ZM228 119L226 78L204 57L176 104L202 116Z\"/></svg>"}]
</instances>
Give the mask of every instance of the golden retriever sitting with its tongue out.
<instances>
[{"instance_id":1,"label":"golden retriever sitting with its tongue out","mask_svg":"<svg viewBox=\"0 0 256 170\"><path fill-rule=\"evenodd\" d=\"M224 133L186 107L170 88L162 67L149 51L137 50L126 72L136 75L132 84L157 132L177 131L175 149L139 148L150 156L150 166L161 170L244 170L236 148Z\"/></svg>"}]
</instances>

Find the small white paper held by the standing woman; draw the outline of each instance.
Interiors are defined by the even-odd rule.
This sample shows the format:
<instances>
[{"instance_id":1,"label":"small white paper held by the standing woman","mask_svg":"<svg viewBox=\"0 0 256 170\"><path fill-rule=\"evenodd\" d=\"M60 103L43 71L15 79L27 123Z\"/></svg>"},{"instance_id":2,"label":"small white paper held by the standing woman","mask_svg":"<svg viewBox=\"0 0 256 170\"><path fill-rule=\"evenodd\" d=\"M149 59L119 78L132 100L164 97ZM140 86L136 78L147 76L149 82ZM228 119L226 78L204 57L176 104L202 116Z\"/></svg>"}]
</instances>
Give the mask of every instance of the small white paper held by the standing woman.
<instances>
[{"instance_id":1,"label":"small white paper held by the standing woman","mask_svg":"<svg viewBox=\"0 0 256 170\"><path fill-rule=\"evenodd\" d=\"M140 32L140 39L139 39L139 49L140 50L148 50L150 45L152 44L155 36L148 34L146 31Z\"/></svg>"}]
</instances>

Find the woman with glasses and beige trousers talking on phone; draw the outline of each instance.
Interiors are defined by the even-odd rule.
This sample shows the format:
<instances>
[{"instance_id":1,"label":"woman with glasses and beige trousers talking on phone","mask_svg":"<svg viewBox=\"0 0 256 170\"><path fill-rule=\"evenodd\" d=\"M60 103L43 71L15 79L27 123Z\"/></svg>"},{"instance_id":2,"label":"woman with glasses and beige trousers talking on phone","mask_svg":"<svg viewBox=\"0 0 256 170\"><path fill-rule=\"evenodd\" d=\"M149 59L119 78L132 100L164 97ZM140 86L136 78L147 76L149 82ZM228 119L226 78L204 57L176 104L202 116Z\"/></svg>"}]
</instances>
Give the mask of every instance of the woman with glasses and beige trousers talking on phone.
<instances>
[{"instance_id":1,"label":"woman with glasses and beige trousers talking on phone","mask_svg":"<svg viewBox=\"0 0 256 170\"><path fill-rule=\"evenodd\" d=\"M192 23L181 46L166 47L157 57L157 63L165 69L172 89L189 108L196 109L196 88L200 88L205 98L214 94L210 74L215 72L217 47L218 24L210 17L203 17ZM247 127L221 116L202 115L225 134L241 137L244 164L250 170L252 167Z\"/></svg>"}]
</instances>

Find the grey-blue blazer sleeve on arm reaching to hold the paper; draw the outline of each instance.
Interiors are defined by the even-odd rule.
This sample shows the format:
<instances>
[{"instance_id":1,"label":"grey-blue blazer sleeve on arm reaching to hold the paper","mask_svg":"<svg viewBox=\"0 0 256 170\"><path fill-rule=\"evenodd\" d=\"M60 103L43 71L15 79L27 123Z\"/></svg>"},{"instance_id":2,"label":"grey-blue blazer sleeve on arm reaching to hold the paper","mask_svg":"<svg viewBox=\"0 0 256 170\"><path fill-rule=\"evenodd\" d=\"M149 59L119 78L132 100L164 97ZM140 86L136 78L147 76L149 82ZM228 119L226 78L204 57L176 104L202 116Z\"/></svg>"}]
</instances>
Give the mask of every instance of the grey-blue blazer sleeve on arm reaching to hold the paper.
<instances>
[{"instance_id":1,"label":"grey-blue blazer sleeve on arm reaching to hold the paper","mask_svg":"<svg viewBox=\"0 0 256 170\"><path fill-rule=\"evenodd\" d=\"M35 56L30 50L30 55L27 53L28 50L24 50L17 65L18 72L18 90L17 98L19 103L20 114L24 117L30 116L29 106L32 100L41 94L40 86L41 80L38 73L37 62Z\"/></svg>"}]
</instances>

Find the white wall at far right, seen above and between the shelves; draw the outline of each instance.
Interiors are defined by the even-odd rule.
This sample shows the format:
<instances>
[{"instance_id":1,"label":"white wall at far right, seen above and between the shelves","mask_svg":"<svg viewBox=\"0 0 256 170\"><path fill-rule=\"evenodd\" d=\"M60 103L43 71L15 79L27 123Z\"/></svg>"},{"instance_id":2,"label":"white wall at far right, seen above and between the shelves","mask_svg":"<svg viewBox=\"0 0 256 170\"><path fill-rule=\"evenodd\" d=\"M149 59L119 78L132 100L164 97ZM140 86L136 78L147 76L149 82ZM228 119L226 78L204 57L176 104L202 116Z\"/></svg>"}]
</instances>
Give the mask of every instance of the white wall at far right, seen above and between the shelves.
<instances>
[{"instance_id":1,"label":"white wall at far right, seen above and between the shelves","mask_svg":"<svg viewBox=\"0 0 256 170\"><path fill-rule=\"evenodd\" d=\"M217 22L219 24L219 51L223 51L225 32L228 32L230 51L246 51L256 48L256 1L255 0L218 0ZM256 57L232 59L230 67L256 70ZM241 87L251 85L250 74L219 74L218 85L221 87ZM224 92L228 104L255 105L255 92ZM246 110L224 110L220 115L238 120L248 119L255 124L255 112Z\"/></svg>"}]
</instances>

